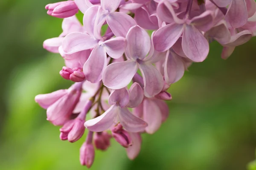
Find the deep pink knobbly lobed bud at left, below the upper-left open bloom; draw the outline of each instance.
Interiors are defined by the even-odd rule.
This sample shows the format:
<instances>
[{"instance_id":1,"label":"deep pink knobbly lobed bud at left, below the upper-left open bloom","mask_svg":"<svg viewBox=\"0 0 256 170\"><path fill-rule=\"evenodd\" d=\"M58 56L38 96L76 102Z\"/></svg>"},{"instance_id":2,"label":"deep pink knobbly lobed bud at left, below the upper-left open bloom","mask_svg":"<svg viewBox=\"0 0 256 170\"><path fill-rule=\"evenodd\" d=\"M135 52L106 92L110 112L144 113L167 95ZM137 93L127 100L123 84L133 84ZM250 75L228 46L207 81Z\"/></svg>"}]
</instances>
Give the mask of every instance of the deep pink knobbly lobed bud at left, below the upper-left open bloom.
<instances>
[{"instance_id":1,"label":"deep pink knobbly lobed bud at left, below the upper-left open bloom","mask_svg":"<svg viewBox=\"0 0 256 170\"><path fill-rule=\"evenodd\" d=\"M60 71L61 77L64 79L70 79L73 82L82 82L85 79L84 73L82 68L68 68L68 67L63 67L62 70Z\"/></svg>"}]
</instances>

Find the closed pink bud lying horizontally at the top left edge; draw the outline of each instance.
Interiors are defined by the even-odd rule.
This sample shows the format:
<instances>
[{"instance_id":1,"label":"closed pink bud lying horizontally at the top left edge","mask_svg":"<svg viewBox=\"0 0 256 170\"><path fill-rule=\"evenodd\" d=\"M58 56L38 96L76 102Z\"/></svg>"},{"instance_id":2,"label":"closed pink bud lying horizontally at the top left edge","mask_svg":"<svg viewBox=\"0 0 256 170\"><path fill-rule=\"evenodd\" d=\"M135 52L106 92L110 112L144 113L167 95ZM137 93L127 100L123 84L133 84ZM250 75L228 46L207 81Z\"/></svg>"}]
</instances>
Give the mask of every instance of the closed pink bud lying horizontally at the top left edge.
<instances>
[{"instance_id":1,"label":"closed pink bud lying horizontally at the top left edge","mask_svg":"<svg viewBox=\"0 0 256 170\"><path fill-rule=\"evenodd\" d=\"M58 18L72 17L79 10L73 0L48 4L45 9L48 10L47 14Z\"/></svg>"}]
</instances>

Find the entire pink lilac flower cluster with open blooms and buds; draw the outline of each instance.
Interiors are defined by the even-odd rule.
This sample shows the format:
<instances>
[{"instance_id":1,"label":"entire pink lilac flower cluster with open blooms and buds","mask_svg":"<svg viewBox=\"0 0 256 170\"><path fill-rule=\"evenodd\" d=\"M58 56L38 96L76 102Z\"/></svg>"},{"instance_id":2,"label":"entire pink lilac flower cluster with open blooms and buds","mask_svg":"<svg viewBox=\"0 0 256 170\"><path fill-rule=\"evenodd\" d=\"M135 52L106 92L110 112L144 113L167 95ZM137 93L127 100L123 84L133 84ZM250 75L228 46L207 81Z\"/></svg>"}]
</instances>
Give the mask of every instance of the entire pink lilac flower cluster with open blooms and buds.
<instances>
[{"instance_id":1,"label":"entire pink lilac flower cluster with open blooms and buds","mask_svg":"<svg viewBox=\"0 0 256 170\"><path fill-rule=\"evenodd\" d=\"M44 48L64 58L60 75L75 83L35 101L62 126L61 140L76 142L89 130L80 149L87 167L94 148L106 150L112 137L134 159L140 134L156 132L168 117L170 85L206 59L209 42L219 42L227 59L256 34L254 0L68 0L46 9L64 20Z\"/></svg>"}]
</instances>

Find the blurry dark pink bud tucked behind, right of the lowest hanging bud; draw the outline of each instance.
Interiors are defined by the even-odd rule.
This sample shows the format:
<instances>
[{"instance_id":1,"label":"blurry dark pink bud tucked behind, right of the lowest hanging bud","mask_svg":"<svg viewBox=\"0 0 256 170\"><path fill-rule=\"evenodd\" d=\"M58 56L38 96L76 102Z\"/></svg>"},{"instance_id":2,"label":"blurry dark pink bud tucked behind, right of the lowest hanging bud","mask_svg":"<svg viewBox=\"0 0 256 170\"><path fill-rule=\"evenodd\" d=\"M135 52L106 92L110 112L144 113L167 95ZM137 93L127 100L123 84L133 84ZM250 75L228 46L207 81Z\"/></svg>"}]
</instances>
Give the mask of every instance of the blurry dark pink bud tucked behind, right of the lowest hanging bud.
<instances>
[{"instance_id":1,"label":"blurry dark pink bud tucked behind, right of the lowest hanging bud","mask_svg":"<svg viewBox=\"0 0 256 170\"><path fill-rule=\"evenodd\" d=\"M98 132L93 136L94 144L97 149L106 150L110 146L111 135L107 132Z\"/></svg>"}]
</instances>

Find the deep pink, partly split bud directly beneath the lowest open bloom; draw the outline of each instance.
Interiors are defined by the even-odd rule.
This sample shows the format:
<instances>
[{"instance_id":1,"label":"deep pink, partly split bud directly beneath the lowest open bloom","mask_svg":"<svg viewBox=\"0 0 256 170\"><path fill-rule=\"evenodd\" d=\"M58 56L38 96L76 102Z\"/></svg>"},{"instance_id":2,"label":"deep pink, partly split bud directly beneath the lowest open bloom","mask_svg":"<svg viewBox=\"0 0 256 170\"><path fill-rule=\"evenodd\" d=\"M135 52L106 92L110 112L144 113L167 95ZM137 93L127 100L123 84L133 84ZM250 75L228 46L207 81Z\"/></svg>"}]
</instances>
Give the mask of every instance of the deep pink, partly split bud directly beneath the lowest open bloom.
<instances>
[{"instance_id":1,"label":"deep pink, partly split bud directly beneath the lowest open bloom","mask_svg":"<svg viewBox=\"0 0 256 170\"><path fill-rule=\"evenodd\" d=\"M131 136L130 134L122 128L121 124L116 125L111 129L113 137L116 142L121 144L123 147L131 146Z\"/></svg>"}]
</instances>

